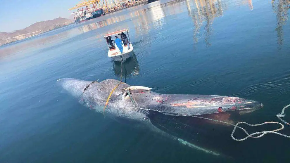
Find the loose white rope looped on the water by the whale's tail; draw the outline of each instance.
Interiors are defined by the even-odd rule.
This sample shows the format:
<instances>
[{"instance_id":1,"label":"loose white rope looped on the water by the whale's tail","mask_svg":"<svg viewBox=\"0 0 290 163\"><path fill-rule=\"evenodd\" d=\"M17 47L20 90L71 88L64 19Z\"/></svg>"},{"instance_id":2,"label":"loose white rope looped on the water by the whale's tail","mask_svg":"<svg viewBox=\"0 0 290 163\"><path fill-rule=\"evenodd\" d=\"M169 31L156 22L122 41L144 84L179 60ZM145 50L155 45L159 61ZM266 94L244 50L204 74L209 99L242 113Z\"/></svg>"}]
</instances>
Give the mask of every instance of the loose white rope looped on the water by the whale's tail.
<instances>
[{"instance_id":1,"label":"loose white rope looped on the water by the whale's tail","mask_svg":"<svg viewBox=\"0 0 290 163\"><path fill-rule=\"evenodd\" d=\"M281 117L285 117L286 115L284 114L284 112L285 112L285 109L287 108L287 107L289 107L290 106L290 104L289 105L287 105L287 106L285 106L283 109L282 109L282 112L281 113L279 113L276 117L277 118L279 118L283 123L285 123L285 124L287 124L287 125L289 125L289 123L287 123L286 121L284 121ZM231 126L234 126L234 129L233 129L233 131L232 131L232 133L231 133L231 137L232 137L232 139L234 139L235 141L244 141L244 140L246 140L247 138L260 138L260 137L262 137L262 136L264 136L264 135L266 135L266 134L268 134L268 133L275 133L275 134L277 134L277 135L280 135L280 136L284 136L284 137L286 137L286 138L290 138L290 136L288 136L288 135L284 135L284 134L282 134L282 133L279 133L279 132L277 132L277 131L280 131L280 130L282 130L282 129L284 129L284 125L282 124L282 123L279 123L279 122L264 122L264 123L260 123L260 124L248 124L248 123L246 123L246 122L238 122L237 124L231 124L231 123L229 123L229 122L224 122L224 121L218 121L218 120L215 120L215 119L210 119L210 118L204 118L204 117L198 117L198 116L192 116L192 117L196 117L196 118L201 118L201 119L207 119L207 120L211 120L211 121L214 121L214 122L221 122L221 123L224 123L224 124L229 124L229 125L231 125ZM249 134L247 131L246 131L246 129L244 129L244 128L242 128L242 127L239 127L239 124L246 124L246 125L248 125L248 126L262 126L262 125L264 125L264 124L279 124L281 127L279 128L279 129L275 129L275 130L272 130L272 131L260 131L260 132L254 132L254 133L251 133L251 134ZM246 133L246 137L245 138L242 138L242 139L237 139L237 138L235 138L234 137L234 133L235 133L235 131L236 131L236 129L237 128L239 128L239 129L242 129L245 133ZM255 136L255 135L258 135L258 136Z\"/></svg>"}]
</instances>

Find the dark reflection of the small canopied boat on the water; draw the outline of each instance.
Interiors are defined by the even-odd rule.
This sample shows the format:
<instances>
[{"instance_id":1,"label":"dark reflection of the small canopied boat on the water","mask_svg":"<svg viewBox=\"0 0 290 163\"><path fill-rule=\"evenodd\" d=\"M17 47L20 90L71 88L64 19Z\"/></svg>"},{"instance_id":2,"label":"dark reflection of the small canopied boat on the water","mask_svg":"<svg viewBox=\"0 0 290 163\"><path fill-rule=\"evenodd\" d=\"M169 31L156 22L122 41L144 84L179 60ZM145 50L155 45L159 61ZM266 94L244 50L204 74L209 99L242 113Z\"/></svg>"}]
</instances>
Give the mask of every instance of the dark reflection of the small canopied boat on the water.
<instances>
[{"instance_id":1,"label":"dark reflection of the small canopied boat on the water","mask_svg":"<svg viewBox=\"0 0 290 163\"><path fill-rule=\"evenodd\" d=\"M121 75L121 63L120 62L113 62L113 70L117 76ZM130 75L138 75L140 71L140 67L137 61L137 58L132 52L132 56L128 58L124 63L122 63L122 75L128 77Z\"/></svg>"}]
</instances>

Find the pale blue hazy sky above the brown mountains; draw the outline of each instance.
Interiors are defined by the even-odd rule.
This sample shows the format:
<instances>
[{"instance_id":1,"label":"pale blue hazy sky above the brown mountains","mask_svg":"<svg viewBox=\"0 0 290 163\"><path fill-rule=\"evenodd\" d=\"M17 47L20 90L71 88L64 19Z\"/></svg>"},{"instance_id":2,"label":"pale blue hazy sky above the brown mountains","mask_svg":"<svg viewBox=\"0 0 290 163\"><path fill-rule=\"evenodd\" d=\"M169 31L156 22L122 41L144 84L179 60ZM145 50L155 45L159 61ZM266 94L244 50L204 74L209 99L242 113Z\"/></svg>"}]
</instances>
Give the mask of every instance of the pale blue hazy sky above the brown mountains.
<instances>
[{"instance_id":1,"label":"pale blue hazy sky above the brown mountains","mask_svg":"<svg viewBox=\"0 0 290 163\"><path fill-rule=\"evenodd\" d=\"M23 29L35 22L68 18L80 0L0 0L0 32Z\"/></svg>"}]
</instances>

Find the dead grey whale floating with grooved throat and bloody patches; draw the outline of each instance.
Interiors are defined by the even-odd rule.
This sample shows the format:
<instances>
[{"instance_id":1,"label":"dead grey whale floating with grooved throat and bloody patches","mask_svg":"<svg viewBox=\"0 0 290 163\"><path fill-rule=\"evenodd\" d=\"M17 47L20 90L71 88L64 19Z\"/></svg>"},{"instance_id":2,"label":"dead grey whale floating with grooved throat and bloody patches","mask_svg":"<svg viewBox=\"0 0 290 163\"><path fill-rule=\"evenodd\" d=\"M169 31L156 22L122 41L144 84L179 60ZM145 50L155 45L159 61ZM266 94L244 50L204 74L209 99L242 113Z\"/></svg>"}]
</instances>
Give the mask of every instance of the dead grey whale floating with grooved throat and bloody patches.
<instances>
[{"instance_id":1,"label":"dead grey whale floating with grooved throat and bloody patches","mask_svg":"<svg viewBox=\"0 0 290 163\"><path fill-rule=\"evenodd\" d=\"M212 155L222 153L198 145L192 140L198 139L201 133L210 134L207 129L211 125L224 124L196 117L233 123L232 117L243 116L263 107L262 103L239 97L161 94L152 91L150 87L131 86L115 79L84 81L62 78L57 80L57 84L79 103L95 112L120 123L149 129L182 145ZM187 132L187 136L181 136L183 131ZM194 134L196 131L198 133Z\"/></svg>"}]
</instances>

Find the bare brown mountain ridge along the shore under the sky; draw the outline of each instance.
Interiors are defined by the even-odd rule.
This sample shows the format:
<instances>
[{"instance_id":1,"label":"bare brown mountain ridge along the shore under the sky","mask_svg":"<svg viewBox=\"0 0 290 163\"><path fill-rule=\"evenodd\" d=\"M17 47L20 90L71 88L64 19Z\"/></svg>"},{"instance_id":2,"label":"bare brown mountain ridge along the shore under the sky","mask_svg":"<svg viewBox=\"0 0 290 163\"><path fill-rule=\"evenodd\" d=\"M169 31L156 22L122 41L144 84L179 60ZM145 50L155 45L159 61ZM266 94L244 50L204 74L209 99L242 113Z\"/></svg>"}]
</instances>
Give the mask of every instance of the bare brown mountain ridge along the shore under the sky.
<instances>
[{"instance_id":1,"label":"bare brown mountain ridge along the shore under the sky","mask_svg":"<svg viewBox=\"0 0 290 163\"><path fill-rule=\"evenodd\" d=\"M43 32L47 32L65 25L72 24L74 21L65 18L56 18L53 20L46 20L42 22L36 22L23 30L16 30L13 32L0 32L0 46L8 44L13 41L18 41L31 37Z\"/></svg>"}]
</instances>

